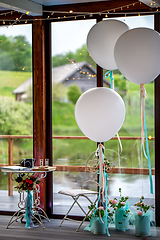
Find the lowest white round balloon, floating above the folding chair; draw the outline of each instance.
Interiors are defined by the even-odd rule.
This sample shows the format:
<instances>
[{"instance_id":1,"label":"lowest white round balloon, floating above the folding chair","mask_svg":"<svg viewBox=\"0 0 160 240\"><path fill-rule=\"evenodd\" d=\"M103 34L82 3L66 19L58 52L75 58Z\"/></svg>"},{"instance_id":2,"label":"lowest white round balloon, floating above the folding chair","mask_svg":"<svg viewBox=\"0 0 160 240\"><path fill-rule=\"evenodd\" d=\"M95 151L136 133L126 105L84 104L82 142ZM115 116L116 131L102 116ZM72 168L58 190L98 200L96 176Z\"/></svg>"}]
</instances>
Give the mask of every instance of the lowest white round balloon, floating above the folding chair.
<instances>
[{"instance_id":1,"label":"lowest white round balloon, floating above the folding chair","mask_svg":"<svg viewBox=\"0 0 160 240\"><path fill-rule=\"evenodd\" d=\"M99 87L84 92L77 100L75 118L81 131L95 142L115 136L125 118L121 96L112 89Z\"/></svg>"}]
</instances>

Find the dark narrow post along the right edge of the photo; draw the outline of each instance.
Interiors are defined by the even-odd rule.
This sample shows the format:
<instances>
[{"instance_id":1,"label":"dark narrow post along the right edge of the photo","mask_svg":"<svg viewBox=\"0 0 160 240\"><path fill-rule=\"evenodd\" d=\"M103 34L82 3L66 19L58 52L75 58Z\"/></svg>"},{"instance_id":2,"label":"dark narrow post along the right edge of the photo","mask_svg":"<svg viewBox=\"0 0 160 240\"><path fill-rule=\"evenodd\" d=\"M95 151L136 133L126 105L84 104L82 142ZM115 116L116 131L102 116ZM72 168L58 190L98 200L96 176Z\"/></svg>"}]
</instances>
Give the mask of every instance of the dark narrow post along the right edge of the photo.
<instances>
[{"instance_id":1,"label":"dark narrow post along the right edge of the photo","mask_svg":"<svg viewBox=\"0 0 160 240\"><path fill-rule=\"evenodd\" d=\"M160 14L154 16L155 30L160 32ZM155 80L155 214L160 227L160 76Z\"/></svg>"}]
</instances>

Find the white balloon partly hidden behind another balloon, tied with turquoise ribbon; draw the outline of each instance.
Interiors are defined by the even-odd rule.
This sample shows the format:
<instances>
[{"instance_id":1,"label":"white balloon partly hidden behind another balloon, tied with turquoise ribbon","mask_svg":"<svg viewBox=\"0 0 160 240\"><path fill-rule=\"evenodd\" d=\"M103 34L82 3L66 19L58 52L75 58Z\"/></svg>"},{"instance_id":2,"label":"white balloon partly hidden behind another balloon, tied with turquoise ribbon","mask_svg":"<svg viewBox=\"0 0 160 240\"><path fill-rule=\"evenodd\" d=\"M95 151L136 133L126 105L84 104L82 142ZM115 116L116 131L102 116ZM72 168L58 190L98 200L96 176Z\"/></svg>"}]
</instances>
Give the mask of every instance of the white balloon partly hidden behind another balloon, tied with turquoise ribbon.
<instances>
[{"instance_id":1,"label":"white balloon partly hidden behind another balloon, tied with turquoise ribbon","mask_svg":"<svg viewBox=\"0 0 160 240\"><path fill-rule=\"evenodd\" d=\"M88 33L87 47L93 60L107 70L117 69L114 46L117 39L128 30L119 20L104 20L95 24Z\"/></svg>"}]
</instances>

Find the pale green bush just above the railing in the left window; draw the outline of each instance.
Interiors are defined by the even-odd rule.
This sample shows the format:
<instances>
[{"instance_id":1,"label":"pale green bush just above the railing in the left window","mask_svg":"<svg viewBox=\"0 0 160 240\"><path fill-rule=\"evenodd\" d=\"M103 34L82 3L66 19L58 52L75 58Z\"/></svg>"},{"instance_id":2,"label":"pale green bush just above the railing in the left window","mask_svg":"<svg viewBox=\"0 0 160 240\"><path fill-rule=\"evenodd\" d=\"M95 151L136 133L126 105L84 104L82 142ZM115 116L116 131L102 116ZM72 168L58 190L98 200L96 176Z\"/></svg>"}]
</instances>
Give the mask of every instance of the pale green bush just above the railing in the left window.
<instances>
[{"instance_id":1,"label":"pale green bush just above the railing in the left window","mask_svg":"<svg viewBox=\"0 0 160 240\"><path fill-rule=\"evenodd\" d=\"M2 135L32 134L32 107L0 96L0 130Z\"/></svg>"}]
</instances>

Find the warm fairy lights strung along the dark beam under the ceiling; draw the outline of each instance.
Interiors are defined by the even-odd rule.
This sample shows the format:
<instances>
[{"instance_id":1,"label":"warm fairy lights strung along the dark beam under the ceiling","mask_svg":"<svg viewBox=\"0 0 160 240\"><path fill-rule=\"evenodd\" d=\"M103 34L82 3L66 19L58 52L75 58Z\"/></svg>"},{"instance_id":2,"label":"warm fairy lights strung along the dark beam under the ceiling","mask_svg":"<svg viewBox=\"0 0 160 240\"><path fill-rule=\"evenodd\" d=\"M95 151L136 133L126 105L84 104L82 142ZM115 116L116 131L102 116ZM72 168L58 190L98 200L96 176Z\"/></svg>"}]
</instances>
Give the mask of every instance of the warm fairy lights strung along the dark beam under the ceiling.
<instances>
[{"instance_id":1,"label":"warm fairy lights strung along the dark beam under the ceiling","mask_svg":"<svg viewBox=\"0 0 160 240\"><path fill-rule=\"evenodd\" d=\"M142 3L140 1L135 1L130 4L122 5L115 8L108 8L103 11L98 12L79 12L79 11L73 11L72 9L69 9L68 11L63 10L43 10L43 17L37 17L33 18L32 16L26 17L26 15L29 15L29 11L27 11L23 16L18 17L17 11L5 11L3 13L0 13L1 17L1 24L8 26L13 26L17 23L27 24L32 23L33 21L42 20L42 21L59 21L59 20L78 20L82 18L87 19L94 19L97 17L97 15L102 16L102 18L108 18L108 17L114 17L114 15L120 15L121 17L126 17L127 15L132 16L140 16L140 15L146 15L148 13L150 14L157 14L159 13L159 6L156 2L151 2L150 7L145 11L144 9L140 9L137 11L139 6ZM16 17L14 18L14 15L16 14ZM13 15L13 18L11 18L10 15ZM2 17L4 16L4 19ZM8 16L8 18L7 18Z\"/></svg>"}]
</instances>

